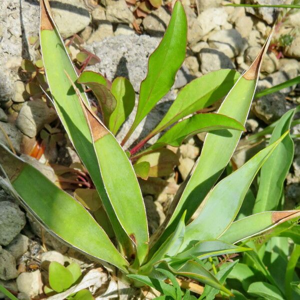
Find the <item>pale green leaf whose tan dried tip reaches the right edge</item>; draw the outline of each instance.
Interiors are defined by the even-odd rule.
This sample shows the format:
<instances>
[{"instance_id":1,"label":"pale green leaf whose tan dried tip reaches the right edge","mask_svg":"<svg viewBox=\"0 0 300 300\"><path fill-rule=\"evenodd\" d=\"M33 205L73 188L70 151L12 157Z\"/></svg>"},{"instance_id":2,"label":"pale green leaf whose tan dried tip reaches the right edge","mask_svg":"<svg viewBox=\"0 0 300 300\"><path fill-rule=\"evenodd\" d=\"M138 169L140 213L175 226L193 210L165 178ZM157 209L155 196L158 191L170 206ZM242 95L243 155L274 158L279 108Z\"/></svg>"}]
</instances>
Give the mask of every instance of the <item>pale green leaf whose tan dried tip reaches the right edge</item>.
<instances>
[{"instance_id":1,"label":"pale green leaf whose tan dried tip reaches the right edge","mask_svg":"<svg viewBox=\"0 0 300 300\"><path fill-rule=\"evenodd\" d=\"M256 213L234 221L218 239L229 243L236 243L251 236L262 234L296 217L300 217L300 210Z\"/></svg>"}]
</instances>

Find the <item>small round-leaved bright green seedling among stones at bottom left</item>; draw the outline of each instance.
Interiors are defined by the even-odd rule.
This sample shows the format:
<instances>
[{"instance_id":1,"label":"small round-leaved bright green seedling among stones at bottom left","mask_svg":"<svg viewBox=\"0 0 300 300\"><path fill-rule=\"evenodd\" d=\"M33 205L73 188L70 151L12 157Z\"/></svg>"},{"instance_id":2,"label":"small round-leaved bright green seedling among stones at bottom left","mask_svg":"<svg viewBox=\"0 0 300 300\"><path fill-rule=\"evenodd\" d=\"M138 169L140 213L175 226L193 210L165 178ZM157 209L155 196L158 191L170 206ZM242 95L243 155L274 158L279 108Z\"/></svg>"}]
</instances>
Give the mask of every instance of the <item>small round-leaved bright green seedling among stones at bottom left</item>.
<instances>
[{"instance_id":1,"label":"small round-leaved bright green seedling among stones at bottom left","mask_svg":"<svg viewBox=\"0 0 300 300\"><path fill-rule=\"evenodd\" d=\"M78 283L82 277L79 264L72 262L68 266L63 266L59 262L52 261L49 264L49 286L44 287L47 295L55 292L63 292L72 285ZM93 296L87 289L81 289L76 293L70 294L68 300L92 300Z\"/></svg>"}]
</instances>

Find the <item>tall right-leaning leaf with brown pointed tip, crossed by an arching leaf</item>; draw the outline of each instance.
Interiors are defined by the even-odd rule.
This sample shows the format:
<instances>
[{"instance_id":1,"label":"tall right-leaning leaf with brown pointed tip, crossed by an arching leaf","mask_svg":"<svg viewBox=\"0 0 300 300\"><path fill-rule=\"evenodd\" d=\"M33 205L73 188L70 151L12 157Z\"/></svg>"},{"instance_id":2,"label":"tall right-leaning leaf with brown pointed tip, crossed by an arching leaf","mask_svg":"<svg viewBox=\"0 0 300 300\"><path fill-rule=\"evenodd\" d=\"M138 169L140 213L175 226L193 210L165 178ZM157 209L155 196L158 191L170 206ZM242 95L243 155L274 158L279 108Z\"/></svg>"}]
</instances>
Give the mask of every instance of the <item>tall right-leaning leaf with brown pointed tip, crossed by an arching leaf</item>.
<instances>
[{"instance_id":1,"label":"tall right-leaning leaf with brown pointed tip, crossed by an arching leaf","mask_svg":"<svg viewBox=\"0 0 300 300\"><path fill-rule=\"evenodd\" d=\"M271 33L253 63L239 77L225 97L218 109L218 113L232 117L242 124L245 123L256 88L261 61L270 39ZM215 130L207 133L201 154L195 163L191 175L186 178L175 195L166 219L160 227L163 230L165 226L168 226L160 237L162 240L173 230L184 210L186 210L185 220L187 221L197 209L228 163L240 135L241 131L231 129ZM160 230L156 232L151 238L151 244L161 234ZM157 241L157 244L161 243L161 239ZM156 247L155 245L153 250Z\"/></svg>"}]
</instances>

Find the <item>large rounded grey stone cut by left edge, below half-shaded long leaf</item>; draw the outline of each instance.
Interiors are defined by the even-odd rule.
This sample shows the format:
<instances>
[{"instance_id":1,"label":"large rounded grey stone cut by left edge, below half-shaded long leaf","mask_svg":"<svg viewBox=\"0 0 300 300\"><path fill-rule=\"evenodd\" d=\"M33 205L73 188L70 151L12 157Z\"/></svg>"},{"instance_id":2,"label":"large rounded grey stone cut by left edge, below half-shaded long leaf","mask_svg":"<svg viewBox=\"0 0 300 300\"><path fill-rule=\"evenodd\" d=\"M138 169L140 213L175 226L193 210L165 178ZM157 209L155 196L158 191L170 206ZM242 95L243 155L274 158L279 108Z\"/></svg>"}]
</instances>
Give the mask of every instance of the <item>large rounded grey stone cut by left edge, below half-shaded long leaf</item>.
<instances>
[{"instance_id":1,"label":"large rounded grey stone cut by left edge, below half-shaded long leaf","mask_svg":"<svg viewBox=\"0 0 300 300\"><path fill-rule=\"evenodd\" d=\"M0 202L0 244L8 245L26 223L24 213L8 201Z\"/></svg>"}]
</instances>

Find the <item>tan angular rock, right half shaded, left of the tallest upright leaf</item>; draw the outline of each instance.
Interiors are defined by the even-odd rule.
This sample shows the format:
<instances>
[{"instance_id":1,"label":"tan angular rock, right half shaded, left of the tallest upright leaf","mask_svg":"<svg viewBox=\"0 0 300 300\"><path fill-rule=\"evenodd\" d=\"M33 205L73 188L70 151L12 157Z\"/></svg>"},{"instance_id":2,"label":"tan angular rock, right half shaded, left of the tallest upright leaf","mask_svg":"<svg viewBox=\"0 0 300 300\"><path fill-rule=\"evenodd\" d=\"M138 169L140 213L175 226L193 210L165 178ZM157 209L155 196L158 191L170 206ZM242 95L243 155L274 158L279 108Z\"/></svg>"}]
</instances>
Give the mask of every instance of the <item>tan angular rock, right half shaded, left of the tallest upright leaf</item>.
<instances>
[{"instance_id":1,"label":"tan angular rock, right half shaded, left of the tallest upright leaf","mask_svg":"<svg viewBox=\"0 0 300 300\"><path fill-rule=\"evenodd\" d=\"M16 119L16 126L27 136L35 136L45 123L50 123L57 117L56 111L47 104L36 99L24 103Z\"/></svg>"}]
</instances>

